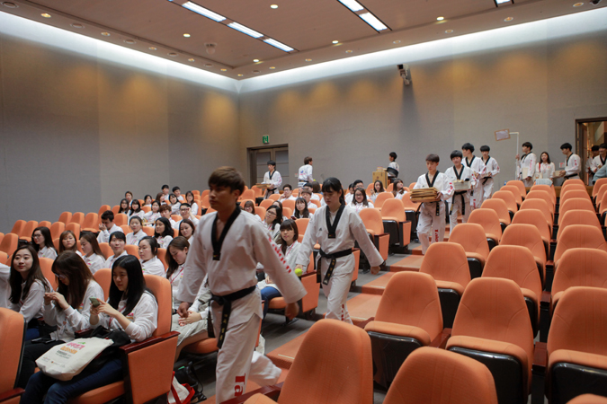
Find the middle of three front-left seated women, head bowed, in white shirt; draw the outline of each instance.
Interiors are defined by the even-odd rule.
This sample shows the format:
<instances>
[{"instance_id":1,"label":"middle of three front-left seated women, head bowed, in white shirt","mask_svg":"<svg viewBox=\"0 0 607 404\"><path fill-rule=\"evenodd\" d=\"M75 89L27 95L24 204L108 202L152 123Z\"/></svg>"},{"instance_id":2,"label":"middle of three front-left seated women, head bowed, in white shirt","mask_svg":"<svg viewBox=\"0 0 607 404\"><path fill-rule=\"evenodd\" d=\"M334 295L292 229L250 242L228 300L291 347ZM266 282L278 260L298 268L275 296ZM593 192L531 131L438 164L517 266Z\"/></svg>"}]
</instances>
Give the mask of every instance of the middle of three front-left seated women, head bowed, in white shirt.
<instances>
[{"instance_id":1,"label":"middle of three front-left seated women, head bowed, in white shirt","mask_svg":"<svg viewBox=\"0 0 607 404\"><path fill-rule=\"evenodd\" d=\"M36 369L36 359L51 347L74 340L76 331L90 327L90 298L103 301L102 287L94 281L85 261L73 251L60 254L53 262L52 270L58 278L58 289L44 294L44 322L57 330L51 332L44 343L25 343L17 383L22 389Z\"/></svg>"}]
</instances>

